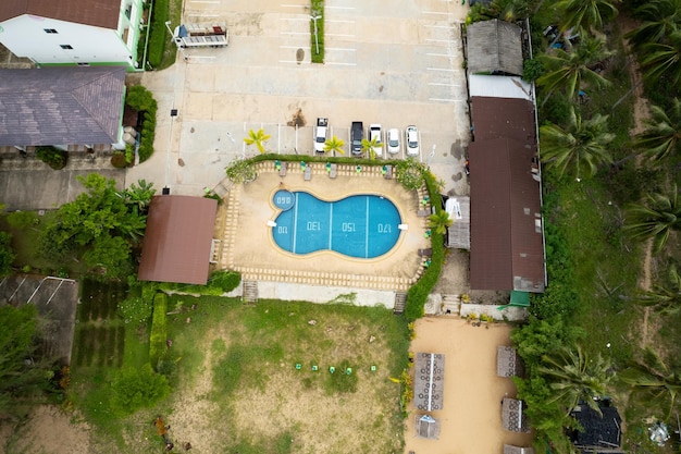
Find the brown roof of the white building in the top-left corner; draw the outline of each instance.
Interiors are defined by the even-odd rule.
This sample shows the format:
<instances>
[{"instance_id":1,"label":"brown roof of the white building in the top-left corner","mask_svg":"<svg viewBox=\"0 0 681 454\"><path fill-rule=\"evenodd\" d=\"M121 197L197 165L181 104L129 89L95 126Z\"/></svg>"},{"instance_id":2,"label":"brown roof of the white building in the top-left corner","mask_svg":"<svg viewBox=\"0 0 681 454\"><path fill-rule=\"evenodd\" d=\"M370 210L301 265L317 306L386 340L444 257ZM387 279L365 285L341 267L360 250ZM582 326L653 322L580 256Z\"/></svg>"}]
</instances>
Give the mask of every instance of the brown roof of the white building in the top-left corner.
<instances>
[{"instance_id":1,"label":"brown roof of the white building in the top-left corner","mask_svg":"<svg viewBox=\"0 0 681 454\"><path fill-rule=\"evenodd\" d=\"M2 0L0 22L32 14L76 24L116 29L121 0Z\"/></svg>"}]
</instances>

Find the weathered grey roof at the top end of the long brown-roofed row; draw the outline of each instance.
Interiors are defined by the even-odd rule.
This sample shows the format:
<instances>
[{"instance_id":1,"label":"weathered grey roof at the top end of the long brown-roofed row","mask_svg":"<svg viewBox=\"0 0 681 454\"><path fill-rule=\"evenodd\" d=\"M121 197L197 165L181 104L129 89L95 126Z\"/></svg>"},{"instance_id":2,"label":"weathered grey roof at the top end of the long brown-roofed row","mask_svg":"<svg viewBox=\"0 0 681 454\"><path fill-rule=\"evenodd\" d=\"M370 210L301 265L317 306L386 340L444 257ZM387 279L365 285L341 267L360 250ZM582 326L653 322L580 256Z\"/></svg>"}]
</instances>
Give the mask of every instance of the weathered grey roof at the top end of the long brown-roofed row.
<instances>
[{"instance_id":1,"label":"weathered grey roof at the top end of the long brown-roofed row","mask_svg":"<svg viewBox=\"0 0 681 454\"><path fill-rule=\"evenodd\" d=\"M494 19L466 28L469 74L522 75L521 28Z\"/></svg>"}]
</instances>

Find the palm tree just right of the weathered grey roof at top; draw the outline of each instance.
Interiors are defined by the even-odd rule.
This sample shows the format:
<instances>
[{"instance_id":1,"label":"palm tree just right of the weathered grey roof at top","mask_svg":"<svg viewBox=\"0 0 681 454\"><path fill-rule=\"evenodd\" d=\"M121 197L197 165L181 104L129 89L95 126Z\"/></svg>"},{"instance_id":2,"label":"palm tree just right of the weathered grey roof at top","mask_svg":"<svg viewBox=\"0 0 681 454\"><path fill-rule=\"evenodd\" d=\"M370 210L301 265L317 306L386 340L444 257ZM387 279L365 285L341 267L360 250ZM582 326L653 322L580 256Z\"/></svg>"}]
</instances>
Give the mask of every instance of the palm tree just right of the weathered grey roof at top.
<instances>
[{"instance_id":1,"label":"palm tree just right of the weathered grey roof at top","mask_svg":"<svg viewBox=\"0 0 681 454\"><path fill-rule=\"evenodd\" d=\"M538 59L546 71L536 79L536 84L548 90L546 99L556 89L562 89L568 98L573 99L582 87L582 82L593 88L609 85L605 77L591 70L612 54L604 45L604 38L587 38L575 46L572 52L555 49L553 54L542 54Z\"/></svg>"}]
</instances>

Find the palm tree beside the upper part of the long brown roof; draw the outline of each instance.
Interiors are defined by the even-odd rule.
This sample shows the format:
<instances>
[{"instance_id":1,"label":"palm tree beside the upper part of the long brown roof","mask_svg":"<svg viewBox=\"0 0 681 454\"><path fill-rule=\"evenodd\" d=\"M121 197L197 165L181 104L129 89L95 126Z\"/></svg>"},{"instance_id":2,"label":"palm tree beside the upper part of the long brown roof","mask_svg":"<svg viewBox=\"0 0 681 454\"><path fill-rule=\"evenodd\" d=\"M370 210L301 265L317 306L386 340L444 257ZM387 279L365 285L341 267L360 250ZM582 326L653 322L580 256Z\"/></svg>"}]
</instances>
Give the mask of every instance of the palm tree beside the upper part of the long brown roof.
<instances>
[{"instance_id":1,"label":"palm tree beside the upper part of the long brown roof","mask_svg":"<svg viewBox=\"0 0 681 454\"><path fill-rule=\"evenodd\" d=\"M607 145L615 134L607 132L607 121L608 116L599 113L591 120L582 120L572 108L567 127L542 126L542 161L555 168L560 176L570 171L580 179L582 168L586 168L589 176L594 175L598 165L612 162Z\"/></svg>"}]
</instances>

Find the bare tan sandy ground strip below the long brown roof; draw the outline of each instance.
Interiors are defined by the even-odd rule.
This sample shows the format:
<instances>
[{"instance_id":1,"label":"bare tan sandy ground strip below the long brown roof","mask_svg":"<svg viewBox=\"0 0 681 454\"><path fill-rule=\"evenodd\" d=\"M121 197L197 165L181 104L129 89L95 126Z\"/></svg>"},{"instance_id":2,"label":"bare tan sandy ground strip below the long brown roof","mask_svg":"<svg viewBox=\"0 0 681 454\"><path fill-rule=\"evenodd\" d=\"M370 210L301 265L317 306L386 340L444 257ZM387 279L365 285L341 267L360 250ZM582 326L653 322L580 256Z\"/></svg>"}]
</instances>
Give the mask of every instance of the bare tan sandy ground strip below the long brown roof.
<instances>
[{"instance_id":1,"label":"bare tan sandy ground strip below the long brown roof","mask_svg":"<svg viewBox=\"0 0 681 454\"><path fill-rule=\"evenodd\" d=\"M502 428L502 398L515 396L510 379L496 376L496 348L510 345L510 327L496 323L476 328L453 318L423 318L417 321L411 351L445 354L444 409L431 416L442 424L438 440L426 440L414 432L414 415L409 408L405 453L480 454L502 453L504 444L530 446L531 434L507 432Z\"/></svg>"}]
</instances>

